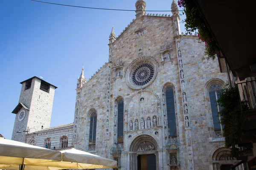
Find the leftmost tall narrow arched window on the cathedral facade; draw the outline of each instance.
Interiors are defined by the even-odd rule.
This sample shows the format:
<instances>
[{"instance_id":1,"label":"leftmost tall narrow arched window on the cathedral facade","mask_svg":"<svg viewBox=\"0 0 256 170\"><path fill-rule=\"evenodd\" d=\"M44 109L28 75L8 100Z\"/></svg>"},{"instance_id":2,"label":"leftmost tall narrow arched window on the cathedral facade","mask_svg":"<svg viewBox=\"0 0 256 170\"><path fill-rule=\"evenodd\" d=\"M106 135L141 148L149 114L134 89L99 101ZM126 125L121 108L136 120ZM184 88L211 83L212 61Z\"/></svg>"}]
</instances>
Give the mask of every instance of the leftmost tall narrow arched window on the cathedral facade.
<instances>
[{"instance_id":1,"label":"leftmost tall narrow arched window on the cathedral facade","mask_svg":"<svg viewBox=\"0 0 256 170\"><path fill-rule=\"evenodd\" d=\"M93 112L90 115L89 150L95 150L96 127L97 127L97 114L96 112Z\"/></svg>"}]
</instances>

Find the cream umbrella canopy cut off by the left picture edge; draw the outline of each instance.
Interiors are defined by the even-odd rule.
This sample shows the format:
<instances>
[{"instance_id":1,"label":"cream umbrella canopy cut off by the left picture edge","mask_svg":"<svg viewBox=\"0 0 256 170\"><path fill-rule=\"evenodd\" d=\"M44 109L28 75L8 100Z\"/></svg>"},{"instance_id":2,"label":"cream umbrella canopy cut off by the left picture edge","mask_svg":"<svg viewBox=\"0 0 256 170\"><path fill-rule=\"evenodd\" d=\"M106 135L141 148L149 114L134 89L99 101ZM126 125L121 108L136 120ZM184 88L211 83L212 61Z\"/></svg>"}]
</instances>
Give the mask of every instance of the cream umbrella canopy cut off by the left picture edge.
<instances>
[{"instance_id":1,"label":"cream umbrella canopy cut off by the left picture edge","mask_svg":"<svg viewBox=\"0 0 256 170\"><path fill-rule=\"evenodd\" d=\"M47 148L0 138L0 169L6 166L61 161L61 153Z\"/></svg>"}]
</instances>

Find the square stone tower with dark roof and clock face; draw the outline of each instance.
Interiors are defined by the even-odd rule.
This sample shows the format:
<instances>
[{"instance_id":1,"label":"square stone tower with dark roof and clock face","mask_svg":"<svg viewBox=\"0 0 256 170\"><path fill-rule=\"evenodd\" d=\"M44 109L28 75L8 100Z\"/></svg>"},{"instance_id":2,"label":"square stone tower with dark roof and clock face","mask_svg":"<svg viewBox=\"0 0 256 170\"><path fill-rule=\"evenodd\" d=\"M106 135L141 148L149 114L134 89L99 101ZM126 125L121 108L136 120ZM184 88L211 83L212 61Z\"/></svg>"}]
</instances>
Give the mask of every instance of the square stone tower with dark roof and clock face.
<instances>
[{"instance_id":1,"label":"square stone tower with dark roof and clock face","mask_svg":"<svg viewBox=\"0 0 256 170\"><path fill-rule=\"evenodd\" d=\"M38 77L32 77L20 84L20 99L12 111L16 114L12 140L26 142L26 134L50 127L57 87Z\"/></svg>"}]
</instances>

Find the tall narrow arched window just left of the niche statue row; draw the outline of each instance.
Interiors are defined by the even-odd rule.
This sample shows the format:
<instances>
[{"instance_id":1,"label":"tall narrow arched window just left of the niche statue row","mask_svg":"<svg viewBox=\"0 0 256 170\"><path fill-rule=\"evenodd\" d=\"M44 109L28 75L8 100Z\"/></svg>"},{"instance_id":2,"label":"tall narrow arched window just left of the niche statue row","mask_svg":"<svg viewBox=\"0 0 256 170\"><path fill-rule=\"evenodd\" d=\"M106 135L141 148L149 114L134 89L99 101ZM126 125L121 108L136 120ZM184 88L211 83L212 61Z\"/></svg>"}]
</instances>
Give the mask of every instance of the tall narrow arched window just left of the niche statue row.
<instances>
[{"instance_id":1,"label":"tall narrow arched window just left of the niche statue row","mask_svg":"<svg viewBox=\"0 0 256 170\"><path fill-rule=\"evenodd\" d=\"M124 142L124 101L119 99L117 105L117 143Z\"/></svg>"}]
</instances>

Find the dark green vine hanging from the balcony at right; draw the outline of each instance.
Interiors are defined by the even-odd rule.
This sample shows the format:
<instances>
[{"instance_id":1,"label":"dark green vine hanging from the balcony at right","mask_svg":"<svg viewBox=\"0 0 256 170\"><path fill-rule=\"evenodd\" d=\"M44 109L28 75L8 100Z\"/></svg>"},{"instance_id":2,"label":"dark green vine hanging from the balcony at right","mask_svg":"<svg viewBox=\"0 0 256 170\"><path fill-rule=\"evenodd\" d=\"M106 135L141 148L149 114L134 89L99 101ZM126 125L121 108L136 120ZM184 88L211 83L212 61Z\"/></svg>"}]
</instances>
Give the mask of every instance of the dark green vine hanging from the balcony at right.
<instances>
[{"instance_id":1,"label":"dark green vine hanging from the balcony at right","mask_svg":"<svg viewBox=\"0 0 256 170\"><path fill-rule=\"evenodd\" d=\"M221 91L216 102L222 107L221 111L218 112L218 116L221 117L220 123L224 126L222 136L225 137L225 145L231 148L231 155L236 157L236 144L241 127L238 88L227 86Z\"/></svg>"}]
</instances>

